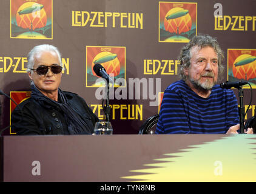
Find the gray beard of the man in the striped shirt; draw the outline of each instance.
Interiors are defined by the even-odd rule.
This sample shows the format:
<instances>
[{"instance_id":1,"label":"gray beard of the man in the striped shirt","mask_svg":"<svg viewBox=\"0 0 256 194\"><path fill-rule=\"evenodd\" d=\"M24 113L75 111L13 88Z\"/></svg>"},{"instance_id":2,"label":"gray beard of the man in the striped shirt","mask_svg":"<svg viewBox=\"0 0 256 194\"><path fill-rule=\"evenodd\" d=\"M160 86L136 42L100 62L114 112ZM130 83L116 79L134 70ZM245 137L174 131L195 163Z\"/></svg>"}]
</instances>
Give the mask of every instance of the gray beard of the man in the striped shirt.
<instances>
[{"instance_id":1,"label":"gray beard of the man in the striped shirt","mask_svg":"<svg viewBox=\"0 0 256 194\"><path fill-rule=\"evenodd\" d=\"M207 77L211 77L211 78L209 78L209 79L206 78L206 81L200 82L200 80L203 76L207 76ZM214 87L214 85L217 83L217 81L214 81L215 76L214 76L214 73L212 73L212 72L207 72L207 73L204 73L203 75L200 75L199 79L193 79L189 75L188 79L194 85L194 87L196 89L201 90L203 92L207 92L208 90L211 90L212 87Z\"/></svg>"}]
</instances>

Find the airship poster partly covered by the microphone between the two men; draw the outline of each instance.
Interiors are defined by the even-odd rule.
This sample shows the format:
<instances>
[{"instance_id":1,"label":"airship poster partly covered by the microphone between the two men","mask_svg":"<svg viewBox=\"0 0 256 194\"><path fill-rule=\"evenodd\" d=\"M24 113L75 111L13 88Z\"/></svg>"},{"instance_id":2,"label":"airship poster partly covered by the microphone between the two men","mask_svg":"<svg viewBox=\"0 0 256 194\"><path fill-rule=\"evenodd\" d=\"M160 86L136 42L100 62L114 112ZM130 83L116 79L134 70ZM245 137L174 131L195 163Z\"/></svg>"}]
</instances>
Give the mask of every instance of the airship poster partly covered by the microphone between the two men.
<instances>
[{"instance_id":1,"label":"airship poster partly covered by the microphone between the two men","mask_svg":"<svg viewBox=\"0 0 256 194\"><path fill-rule=\"evenodd\" d=\"M97 81L99 76L93 71L95 64L103 65L114 80L126 79L126 47L86 47L86 87L103 87L103 80ZM114 87L125 87L115 84Z\"/></svg>"}]
</instances>

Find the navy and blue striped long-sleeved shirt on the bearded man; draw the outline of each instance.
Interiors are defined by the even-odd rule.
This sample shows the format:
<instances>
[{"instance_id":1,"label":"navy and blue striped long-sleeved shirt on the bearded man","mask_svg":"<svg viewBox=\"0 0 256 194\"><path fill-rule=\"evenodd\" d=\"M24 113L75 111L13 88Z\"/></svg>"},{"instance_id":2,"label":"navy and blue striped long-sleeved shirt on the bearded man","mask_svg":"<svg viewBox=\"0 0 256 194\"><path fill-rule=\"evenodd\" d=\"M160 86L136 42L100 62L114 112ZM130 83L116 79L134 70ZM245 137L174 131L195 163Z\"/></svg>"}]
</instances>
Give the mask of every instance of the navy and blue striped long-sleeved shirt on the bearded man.
<instances>
[{"instance_id":1,"label":"navy and blue striped long-sleeved shirt on the bearded man","mask_svg":"<svg viewBox=\"0 0 256 194\"><path fill-rule=\"evenodd\" d=\"M226 133L238 123L232 90L214 85L211 95L202 98L180 80L164 91L156 133Z\"/></svg>"}]
</instances>

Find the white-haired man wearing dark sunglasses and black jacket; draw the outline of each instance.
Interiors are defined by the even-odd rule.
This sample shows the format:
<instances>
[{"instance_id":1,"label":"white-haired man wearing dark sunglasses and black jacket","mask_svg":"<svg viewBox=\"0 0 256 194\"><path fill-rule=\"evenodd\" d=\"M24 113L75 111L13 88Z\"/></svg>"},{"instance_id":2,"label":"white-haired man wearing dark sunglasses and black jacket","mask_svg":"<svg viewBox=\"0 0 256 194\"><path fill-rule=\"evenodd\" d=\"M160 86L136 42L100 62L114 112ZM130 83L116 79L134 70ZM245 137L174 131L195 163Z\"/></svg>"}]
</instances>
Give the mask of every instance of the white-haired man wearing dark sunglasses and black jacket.
<instances>
[{"instance_id":1,"label":"white-haired man wearing dark sunglasses and black jacket","mask_svg":"<svg viewBox=\"0 0 256 194\"><path fill-rule=\"evenodd\" d=\"M18 135L93 133L99 119L83 98L59 89L62 69L61 55L53 45L37 45L30 51L27 72L31 98L12 112L12 129Z\"/></svg>"}]
</instances>

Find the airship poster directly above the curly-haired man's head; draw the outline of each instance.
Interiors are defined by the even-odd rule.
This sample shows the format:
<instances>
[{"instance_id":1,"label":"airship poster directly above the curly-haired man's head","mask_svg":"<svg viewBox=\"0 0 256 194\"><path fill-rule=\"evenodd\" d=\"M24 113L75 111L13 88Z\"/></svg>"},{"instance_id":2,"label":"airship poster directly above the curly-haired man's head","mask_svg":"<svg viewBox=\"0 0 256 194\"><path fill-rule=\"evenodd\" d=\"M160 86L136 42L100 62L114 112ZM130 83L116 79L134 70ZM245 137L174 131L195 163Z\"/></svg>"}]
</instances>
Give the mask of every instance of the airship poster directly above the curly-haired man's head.
<instances>
[{"instance_id":1,"label":"airship poster directly above the curly-haired man's head","mask_svg":"<svg viewBox=\"0 0 256 194\"><path fill-rule=\"evenodd\" d=\"M159 42L189 42L197 35L197 3L159 2Z\"/></svg>"}]
</instances>

